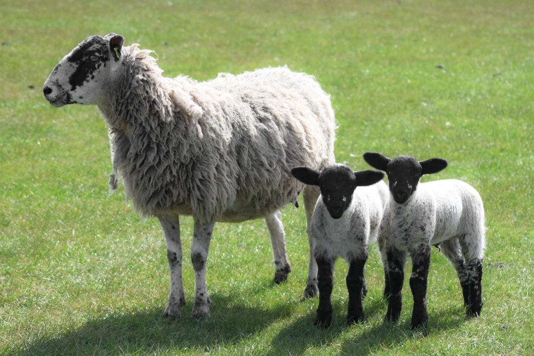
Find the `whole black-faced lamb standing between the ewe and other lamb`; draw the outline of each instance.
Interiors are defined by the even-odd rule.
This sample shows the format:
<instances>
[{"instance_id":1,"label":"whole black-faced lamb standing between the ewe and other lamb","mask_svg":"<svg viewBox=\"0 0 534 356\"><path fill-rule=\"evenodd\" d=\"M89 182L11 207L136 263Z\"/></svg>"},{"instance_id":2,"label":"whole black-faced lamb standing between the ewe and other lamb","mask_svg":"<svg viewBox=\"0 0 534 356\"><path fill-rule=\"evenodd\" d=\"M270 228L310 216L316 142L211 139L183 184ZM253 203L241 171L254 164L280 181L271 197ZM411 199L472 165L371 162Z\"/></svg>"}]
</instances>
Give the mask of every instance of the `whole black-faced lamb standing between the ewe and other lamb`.
<instances>
[{"instance_id":1,"label":"whole black-faced lamb standing between the ewe and other lamb","mask_svg":"<svg viewBox=\"0 0 534 356\"><path fill-rule=\"evenodd\" d=\"M382 181L384 173L354 172L344 164L327 165L323 171L296 167L291 173L305 184L319 186L321 191L311 219L319 286L319 307L314 323L328 327L332 322L333 271L338 256L349 264L347 322L363 321L368 244L376 241L388 200L388 188Z\"/></svg>"}]
</instances>

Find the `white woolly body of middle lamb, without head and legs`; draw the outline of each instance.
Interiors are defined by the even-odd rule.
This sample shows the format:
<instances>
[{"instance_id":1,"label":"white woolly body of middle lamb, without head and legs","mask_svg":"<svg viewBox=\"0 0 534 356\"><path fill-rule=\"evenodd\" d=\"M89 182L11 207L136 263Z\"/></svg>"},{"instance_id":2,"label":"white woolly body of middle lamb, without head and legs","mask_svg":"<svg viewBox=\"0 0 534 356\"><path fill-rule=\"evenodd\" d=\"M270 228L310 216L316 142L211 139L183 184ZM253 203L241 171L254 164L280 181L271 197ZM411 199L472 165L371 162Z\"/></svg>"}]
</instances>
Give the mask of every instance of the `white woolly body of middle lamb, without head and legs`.
<instances>
[{"instance_id":1,"label":"white woolly body of middle lamb, without head and legs","mask_svg":"<svg viewBox=\"0 0 534 356\"><path fill-rule=\"evenodd\" d=\"M339 256L347 262L367 256L368 245L376 242L387 200L388 188L383 181L357 187L347 210L341 218L333 219L319 196L311 219L316 256Z\"/></svg>"}]
</instances>

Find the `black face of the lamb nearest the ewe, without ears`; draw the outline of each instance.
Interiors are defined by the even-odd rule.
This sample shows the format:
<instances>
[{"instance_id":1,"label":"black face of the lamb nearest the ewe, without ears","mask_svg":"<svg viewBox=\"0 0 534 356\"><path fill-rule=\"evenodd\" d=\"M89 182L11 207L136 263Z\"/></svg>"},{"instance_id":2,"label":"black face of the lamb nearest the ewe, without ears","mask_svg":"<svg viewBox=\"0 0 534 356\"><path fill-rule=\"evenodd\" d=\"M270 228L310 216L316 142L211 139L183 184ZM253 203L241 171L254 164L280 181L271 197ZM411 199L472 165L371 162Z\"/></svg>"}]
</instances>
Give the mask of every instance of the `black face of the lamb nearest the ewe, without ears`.
<instances>
[{"instance_id":1,"label":"black face of the lamb nearest the ewe, without ears","mask_svg":"<svg viewBox=\"0 0 534 356\"><path fill-rule=\"evenodd\" d=\"M344 165L327 166L319 176L323 202L333 219L339 219L352 202L356 189L354 172Z\"/></svg>"}]
</instances>

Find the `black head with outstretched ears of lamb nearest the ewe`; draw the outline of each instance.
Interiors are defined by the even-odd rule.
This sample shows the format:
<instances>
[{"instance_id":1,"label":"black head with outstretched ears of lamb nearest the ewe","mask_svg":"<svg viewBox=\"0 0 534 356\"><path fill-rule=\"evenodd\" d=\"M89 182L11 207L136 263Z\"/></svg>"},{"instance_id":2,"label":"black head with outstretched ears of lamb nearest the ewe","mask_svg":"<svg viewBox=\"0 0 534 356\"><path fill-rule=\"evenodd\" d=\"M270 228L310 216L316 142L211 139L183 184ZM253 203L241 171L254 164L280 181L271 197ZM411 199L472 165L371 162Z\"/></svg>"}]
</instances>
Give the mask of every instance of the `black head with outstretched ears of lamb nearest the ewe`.
<instances>
[{"instance_id":1,"label":"black head with outstretched ears of lamb nearest the ewe","mask_svg":"<svg viewBox=\"0 0 534 356\"><path fill-rule=\"evenodd\" d=\"M373 185L384 177L377 171L354 172L344 164L330 164L323 171L296 167L291 173L302 183L319 186L323 203L333 219L343 216L356 187Z\"/></svg>"}]
</instances>

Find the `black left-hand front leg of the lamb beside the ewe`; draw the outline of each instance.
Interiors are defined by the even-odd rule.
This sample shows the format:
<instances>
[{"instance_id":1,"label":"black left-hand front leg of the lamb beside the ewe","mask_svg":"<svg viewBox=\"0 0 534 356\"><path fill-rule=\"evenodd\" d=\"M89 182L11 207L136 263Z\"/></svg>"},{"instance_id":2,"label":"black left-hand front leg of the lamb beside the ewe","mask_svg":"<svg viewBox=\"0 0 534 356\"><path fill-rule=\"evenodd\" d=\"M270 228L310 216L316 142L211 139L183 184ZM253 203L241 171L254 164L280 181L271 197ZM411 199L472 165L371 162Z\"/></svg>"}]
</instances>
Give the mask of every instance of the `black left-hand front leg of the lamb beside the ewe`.
<instances>
[{"instance_id":1,"label":"black left-hand front leg of the lamb beside the ewe","mask_svg":"<svg viewBox=\"0 0 534 356\"><path fill-rule=\"evenodd\" d=\"M318 327L327 328L332 323L332 289L334 288L334 261L324 256L317 257L317 280L319 287L319 307L313 322ZM360 289L361 292L361 289Z\"/></svg>"}]
</instances>

